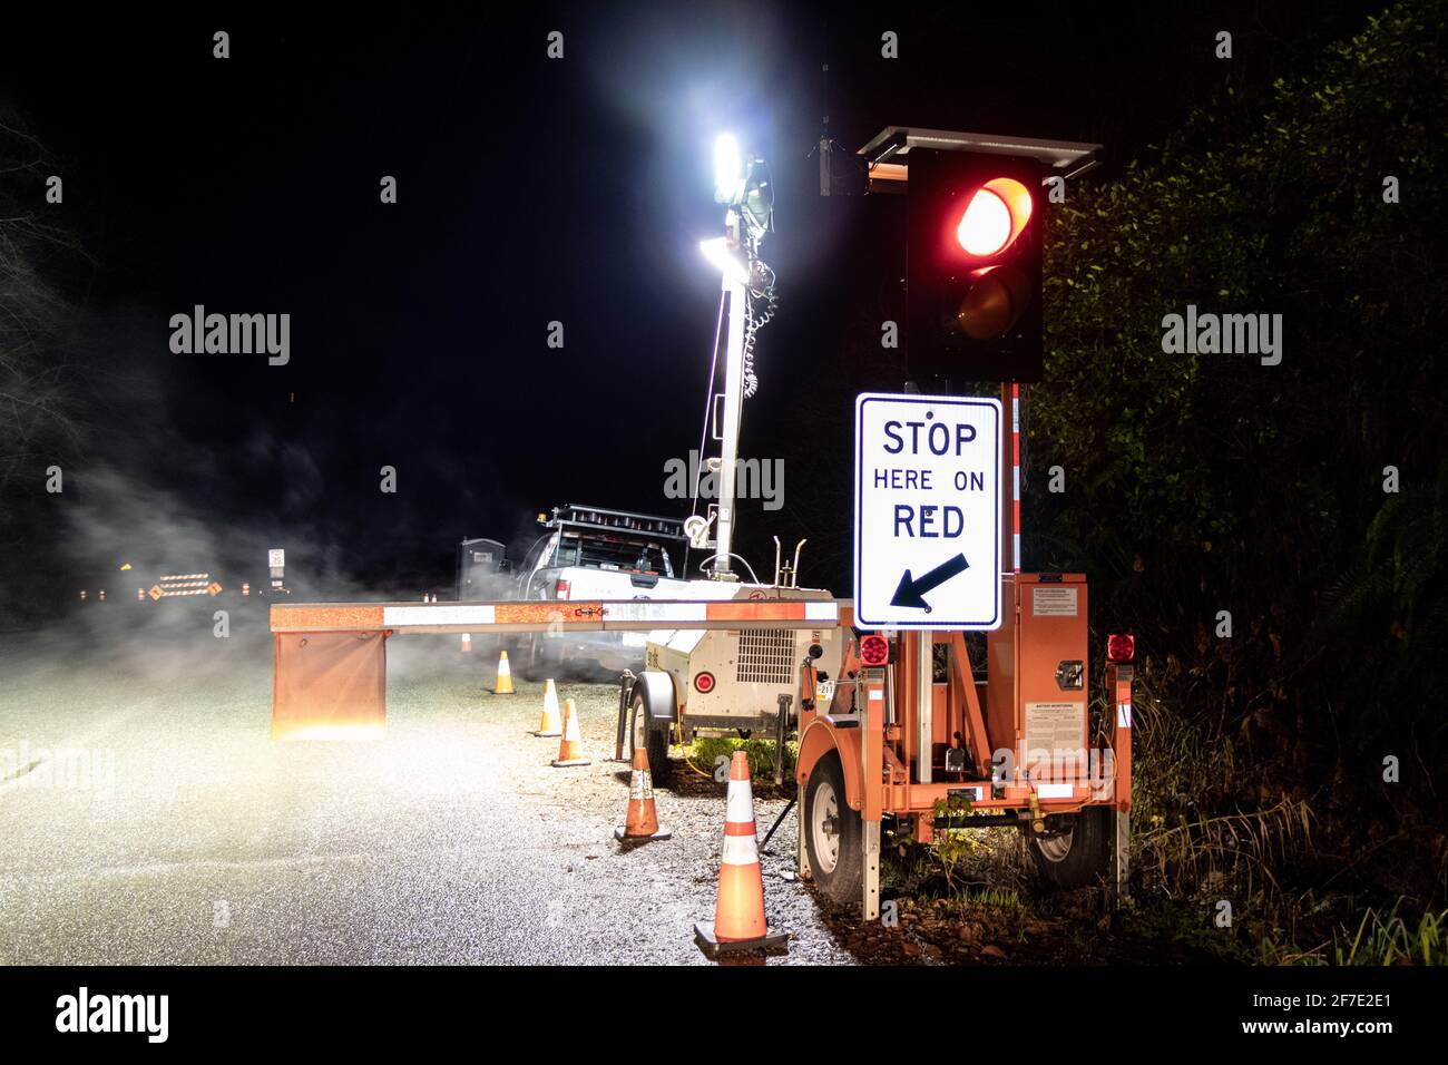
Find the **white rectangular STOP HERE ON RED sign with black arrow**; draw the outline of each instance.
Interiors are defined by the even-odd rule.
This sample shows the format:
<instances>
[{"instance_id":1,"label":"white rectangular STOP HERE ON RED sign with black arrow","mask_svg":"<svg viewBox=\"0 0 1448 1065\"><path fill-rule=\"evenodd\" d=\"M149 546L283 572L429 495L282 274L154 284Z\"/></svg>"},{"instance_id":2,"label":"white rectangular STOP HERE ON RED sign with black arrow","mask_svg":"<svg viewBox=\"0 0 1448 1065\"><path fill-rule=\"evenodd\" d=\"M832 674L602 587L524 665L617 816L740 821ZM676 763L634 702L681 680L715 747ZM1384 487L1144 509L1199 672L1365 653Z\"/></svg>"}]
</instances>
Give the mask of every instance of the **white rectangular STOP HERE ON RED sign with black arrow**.
<instances>
[{"instance_id":1,"label":"white rectangular STOP HERE ON RED sign with black arrow","mask_svg":"<svg viewBox=\"0 0 1448 1065\"><path fill-rule=\"evenodd\" d=\"M864 629L1001 627L1001 401L854 401L854 617Z\"/></svg>"}]
</instances>

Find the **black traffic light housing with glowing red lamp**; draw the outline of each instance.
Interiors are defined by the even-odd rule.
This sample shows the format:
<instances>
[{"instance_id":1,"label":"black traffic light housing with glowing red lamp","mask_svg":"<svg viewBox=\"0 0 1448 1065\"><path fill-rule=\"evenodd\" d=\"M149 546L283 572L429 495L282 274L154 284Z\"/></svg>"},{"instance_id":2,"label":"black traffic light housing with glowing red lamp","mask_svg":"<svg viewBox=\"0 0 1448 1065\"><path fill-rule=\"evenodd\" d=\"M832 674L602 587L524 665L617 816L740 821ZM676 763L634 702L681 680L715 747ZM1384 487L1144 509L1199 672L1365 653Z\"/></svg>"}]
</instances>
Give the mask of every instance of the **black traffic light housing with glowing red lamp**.
<instances>
[{"instance_id":1,"label":"black traffic light housing with glowing red lamp","mask_svg":"<svg viewBox=\"0 0 1448 1065\"><path fill-rule=\"evenodd\" d=\"M919 146L908 159L911 380L1040 381L1043 164Z\"/></svg>"}]
</instances>

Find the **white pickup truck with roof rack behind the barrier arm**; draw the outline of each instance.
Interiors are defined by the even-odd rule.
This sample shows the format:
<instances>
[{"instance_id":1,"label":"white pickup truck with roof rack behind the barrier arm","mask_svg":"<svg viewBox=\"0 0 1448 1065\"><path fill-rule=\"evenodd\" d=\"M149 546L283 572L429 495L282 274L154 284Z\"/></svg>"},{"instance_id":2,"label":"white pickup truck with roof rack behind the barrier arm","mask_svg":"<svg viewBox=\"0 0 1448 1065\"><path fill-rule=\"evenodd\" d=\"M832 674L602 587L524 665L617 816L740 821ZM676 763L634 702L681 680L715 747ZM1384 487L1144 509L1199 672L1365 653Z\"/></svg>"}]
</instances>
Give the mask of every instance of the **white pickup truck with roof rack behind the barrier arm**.
<instances>
[{"instance_id":1,"label":"white pickup truck with roof rack behind the barrier arm","mask_svg":"<svg viewBox=\"0 0 1448 1065\"><path fill-rule=\"evenodd\" d=\"M569 504L539 514L542 536L515 569L517 598L688 598L683 522ZM641 669L641 632L537 633L514 643L524 677Z\"/></svg>"}]
</instances>

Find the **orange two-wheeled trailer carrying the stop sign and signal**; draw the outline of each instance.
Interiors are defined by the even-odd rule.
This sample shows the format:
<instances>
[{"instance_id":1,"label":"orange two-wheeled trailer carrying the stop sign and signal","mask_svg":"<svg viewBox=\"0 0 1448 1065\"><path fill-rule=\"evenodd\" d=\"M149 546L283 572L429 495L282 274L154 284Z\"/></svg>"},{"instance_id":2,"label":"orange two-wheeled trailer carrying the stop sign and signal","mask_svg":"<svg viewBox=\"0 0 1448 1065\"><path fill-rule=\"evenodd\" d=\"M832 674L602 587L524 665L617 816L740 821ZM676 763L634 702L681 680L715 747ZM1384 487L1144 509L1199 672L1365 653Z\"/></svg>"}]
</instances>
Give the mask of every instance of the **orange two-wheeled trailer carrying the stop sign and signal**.
<instances>
[{"instance_id":1,"label":"orange two-wheeled trailer carrying the stop sign and signal","mask_svg":"<svg viewBox=\"0 0 1448 1065\"><path fill-rule=\"evenodd\" d=\"M1009 410L1011 385L1003 400ZM1005 469L1014 448L1003 435ZM814 665L801 668L799 875L835 901L859 898L866 920L879 914L886 824L924 843L1016 827L1045 882L1127 890L1134 639L1111 636L1093 659L1085 575L1014 569L1008 484L998 629L847 629L828 700L815 698ZM1105 698L1092 700L1093 661Z\"/></svg>"}]
</instances>

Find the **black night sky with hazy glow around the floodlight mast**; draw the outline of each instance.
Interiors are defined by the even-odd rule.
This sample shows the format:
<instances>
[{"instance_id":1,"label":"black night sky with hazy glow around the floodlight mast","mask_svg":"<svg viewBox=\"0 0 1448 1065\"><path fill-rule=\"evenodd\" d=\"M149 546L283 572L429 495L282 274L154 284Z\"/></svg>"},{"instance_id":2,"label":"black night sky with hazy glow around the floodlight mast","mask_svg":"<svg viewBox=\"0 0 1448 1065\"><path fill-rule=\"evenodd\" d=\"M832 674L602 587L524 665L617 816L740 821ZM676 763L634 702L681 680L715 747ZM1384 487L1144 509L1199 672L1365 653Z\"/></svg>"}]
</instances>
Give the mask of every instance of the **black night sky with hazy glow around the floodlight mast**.
<instances>
[{"instance_id":1,"label":"black night sky with hazy glow around the floodlight mast","mask_svg":"<svg viewBox=\"0 0 1448 1065\"><path fill-rule=\"evenodd\" d=\"M0 45L0 104L59 161L56 217L97 262L70 280L103 401L87 461L220 525L320 539L378 582L446 587L460 536L507 539L569 500L682 513L662 464L699 433L717 130L767 156L779 190L765 258L780 314L744 454L841 448L847 410L788 417L851 327L850 264L880 251L870 203L817 196L807 154L825 113L850 149L899 122L1098 141L1111 167L1224 83L1261 85L1373 10L982 7L35 16ZM550 29L562 62L544 57ZM879 57L886 29L898 61ZM1218 29L1231 64L1212 58ZM382 174L397 206L378 203ZM172 355L168 319L195 303L291 313L291 364ZM555 319L560 352L544 345ZM384 464L398 496L376 490ZM847 465L838 477L844 491ZM756 565L770 532L808 532L788 513L743 522Z\"/></svg>"}]
</instances>

